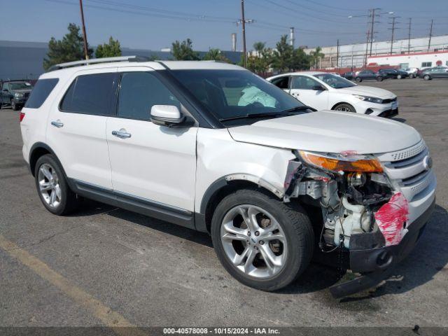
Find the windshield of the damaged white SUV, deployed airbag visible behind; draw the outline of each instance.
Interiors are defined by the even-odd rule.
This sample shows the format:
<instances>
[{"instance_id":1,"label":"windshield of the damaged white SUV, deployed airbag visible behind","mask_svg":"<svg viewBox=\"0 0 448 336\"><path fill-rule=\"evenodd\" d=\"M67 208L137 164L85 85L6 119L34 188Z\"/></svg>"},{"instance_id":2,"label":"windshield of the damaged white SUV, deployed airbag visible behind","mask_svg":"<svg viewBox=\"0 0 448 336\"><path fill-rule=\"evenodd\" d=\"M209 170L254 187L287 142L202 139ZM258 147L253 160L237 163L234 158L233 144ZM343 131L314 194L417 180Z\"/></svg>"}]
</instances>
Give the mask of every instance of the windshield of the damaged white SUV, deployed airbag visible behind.
<instances>
[{"instance_id":1,"label":"windshield of the damaged white SUV, deployed airbag visible behind","mask_svg":"<svg viewBox=\"0 0 448 336\"><path fill-rule=\"evenodd\" d=\"M304 106L290 94L246 70L174 70L202 107L219 120L262 115L262 118Z\"/></svg>"}]
</instances>

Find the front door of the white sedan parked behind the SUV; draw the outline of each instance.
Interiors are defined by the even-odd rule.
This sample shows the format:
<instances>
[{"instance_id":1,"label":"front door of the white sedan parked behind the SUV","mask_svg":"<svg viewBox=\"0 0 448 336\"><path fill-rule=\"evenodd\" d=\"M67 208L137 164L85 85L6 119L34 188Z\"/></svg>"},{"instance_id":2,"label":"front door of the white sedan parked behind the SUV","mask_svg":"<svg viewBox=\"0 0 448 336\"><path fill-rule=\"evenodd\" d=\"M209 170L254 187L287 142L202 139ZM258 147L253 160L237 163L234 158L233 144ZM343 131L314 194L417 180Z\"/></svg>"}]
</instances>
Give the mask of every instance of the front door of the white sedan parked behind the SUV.
<instances>
[{"instance_id":1,"label":"front door of the white sedan parked behind the SUV","mask_svg":"<svg viewBox=\"0 0 448 336\"><path fill-rule=\"evenodd\" d=\"M309 76L292 76L290 80L290 94L305 105L316 110L328 109L328 90L321 83Z\"/></svg>"}]
</instances>

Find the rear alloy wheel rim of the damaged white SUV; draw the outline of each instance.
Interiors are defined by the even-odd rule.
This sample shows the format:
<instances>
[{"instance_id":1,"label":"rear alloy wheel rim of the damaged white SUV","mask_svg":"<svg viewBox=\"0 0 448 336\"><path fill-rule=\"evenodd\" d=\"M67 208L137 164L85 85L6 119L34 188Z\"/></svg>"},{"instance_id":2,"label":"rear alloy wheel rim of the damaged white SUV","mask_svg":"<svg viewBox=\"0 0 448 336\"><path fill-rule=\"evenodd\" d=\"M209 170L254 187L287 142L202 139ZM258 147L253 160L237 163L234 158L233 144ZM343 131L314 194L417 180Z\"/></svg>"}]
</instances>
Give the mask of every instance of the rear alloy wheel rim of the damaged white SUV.
<instances>
[{"instance_id":1,"label":"rear alloy wheel rim of the damaged white SUV","mask_svg":"<svg viewBox=\"0 0 448 336\"><path fill-rule=\"evenodd\" d=\"M57 208L62 201L62 190L59 185L59 176L50 164L44 163L38 170L38 186L41 196L46 204Z\"/></svg>"}]
</instances>

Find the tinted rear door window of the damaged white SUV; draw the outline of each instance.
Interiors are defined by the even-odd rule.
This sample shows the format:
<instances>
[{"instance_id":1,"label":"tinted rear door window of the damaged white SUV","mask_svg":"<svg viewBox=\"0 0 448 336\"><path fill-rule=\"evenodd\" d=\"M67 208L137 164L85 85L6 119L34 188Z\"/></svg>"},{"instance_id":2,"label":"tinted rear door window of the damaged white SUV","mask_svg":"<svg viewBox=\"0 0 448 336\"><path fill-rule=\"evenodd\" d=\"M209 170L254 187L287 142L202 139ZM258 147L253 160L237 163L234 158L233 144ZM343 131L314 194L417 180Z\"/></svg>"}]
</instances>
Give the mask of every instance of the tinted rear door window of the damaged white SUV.
<instances>
[{"instance_id":1,"label":"tinted rear door window of the damaged white SUV","mask_svg":"<svg viewBox=\"0 0 448 336\"><path fill-rule=\"evenodd\" d=\"M78 76L62 99L63 112L111 116L115 114L116 73L94 73Z\"/></svg>"}]
</instances>

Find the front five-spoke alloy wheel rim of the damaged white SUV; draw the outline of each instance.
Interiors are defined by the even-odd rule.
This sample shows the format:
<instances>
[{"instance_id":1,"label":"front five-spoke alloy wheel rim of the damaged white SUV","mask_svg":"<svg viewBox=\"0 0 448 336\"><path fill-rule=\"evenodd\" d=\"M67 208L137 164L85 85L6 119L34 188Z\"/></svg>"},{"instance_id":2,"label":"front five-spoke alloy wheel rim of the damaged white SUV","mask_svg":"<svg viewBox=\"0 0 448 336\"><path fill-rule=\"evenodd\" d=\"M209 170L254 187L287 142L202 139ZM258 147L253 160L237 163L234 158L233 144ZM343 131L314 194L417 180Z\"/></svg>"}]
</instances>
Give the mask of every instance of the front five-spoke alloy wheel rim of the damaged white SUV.
<instances>
[{"instance_id":1,"label":"front five-spoke alloy wheel rim of the damaged white SUV","mask_svg":"<svg viewBox=\"0 0 448 336\"><path fill-rule=\"evenodd\" d=\"M288 244L280 223L255 205L241 204L225 214L221 244L240 272L257 279L272 278L286 264Z\"/></svg>"}]
</instances>

